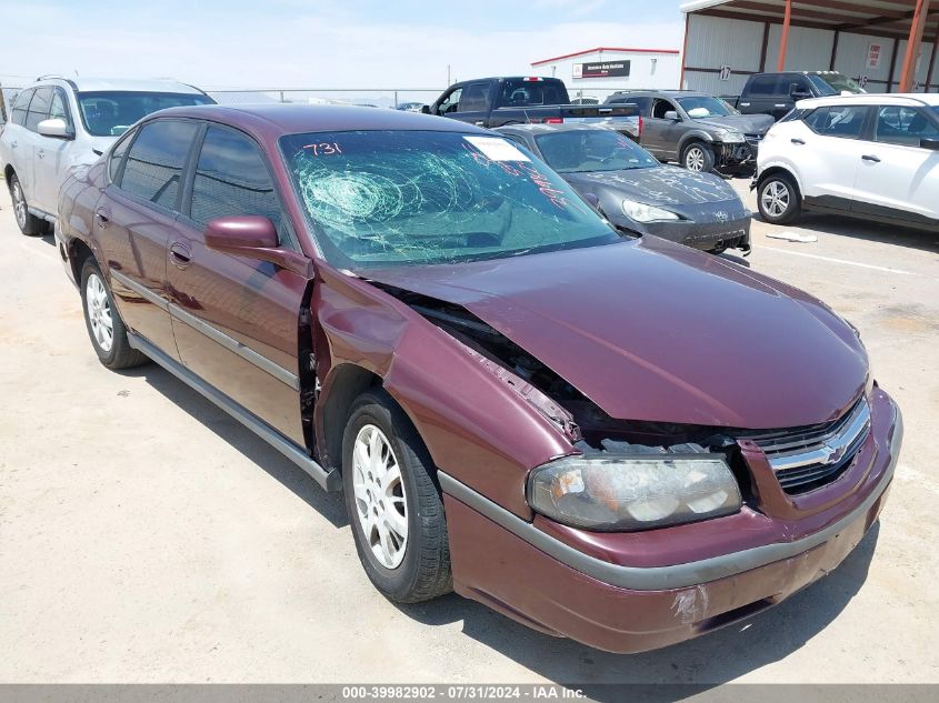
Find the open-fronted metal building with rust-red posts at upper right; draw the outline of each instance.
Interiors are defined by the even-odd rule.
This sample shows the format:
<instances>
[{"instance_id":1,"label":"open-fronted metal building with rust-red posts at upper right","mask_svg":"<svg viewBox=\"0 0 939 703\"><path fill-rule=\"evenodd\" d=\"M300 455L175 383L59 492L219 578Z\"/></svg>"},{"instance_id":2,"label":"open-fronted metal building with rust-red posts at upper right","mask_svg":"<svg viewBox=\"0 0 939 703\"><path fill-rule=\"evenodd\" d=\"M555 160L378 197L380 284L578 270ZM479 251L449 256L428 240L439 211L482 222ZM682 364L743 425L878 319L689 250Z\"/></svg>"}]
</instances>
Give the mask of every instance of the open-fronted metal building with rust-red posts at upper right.
<instances>
[{"instance_id":1,"label":"open-fronted metal building with rust-red posts at upper right","mask_svg":"<svg viewBox=\"0 0 939 703\"><path fill-rule=\"evenodd\" d=\"M738 93L761 71L840 71L871 92L939 92L939 0L696 0L681 83Z\"/></svg>"}]
</instances>

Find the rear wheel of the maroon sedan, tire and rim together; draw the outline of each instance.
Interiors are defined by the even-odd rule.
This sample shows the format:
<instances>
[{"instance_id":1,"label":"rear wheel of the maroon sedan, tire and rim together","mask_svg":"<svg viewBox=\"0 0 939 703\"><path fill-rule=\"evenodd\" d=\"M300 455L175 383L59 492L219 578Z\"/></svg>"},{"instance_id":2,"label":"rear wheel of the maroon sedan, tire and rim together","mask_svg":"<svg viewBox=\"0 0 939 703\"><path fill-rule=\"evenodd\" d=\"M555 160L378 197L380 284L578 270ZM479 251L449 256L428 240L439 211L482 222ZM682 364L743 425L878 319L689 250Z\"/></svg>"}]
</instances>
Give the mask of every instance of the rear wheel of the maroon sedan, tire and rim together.
<instances>
[{"instance_id":1,"label":"rear wheel of the maroon sedan, tire and rim together","mask_svg":"<svg viewBox=\"0 0 939 703\"><path fill-rule=\"evenodd\" d=\"M81 307L88 337L102 364L118 370L147 363L147 356L130 345L111 291L92 258L81 269Z\"/></svg>"}]
</instances>

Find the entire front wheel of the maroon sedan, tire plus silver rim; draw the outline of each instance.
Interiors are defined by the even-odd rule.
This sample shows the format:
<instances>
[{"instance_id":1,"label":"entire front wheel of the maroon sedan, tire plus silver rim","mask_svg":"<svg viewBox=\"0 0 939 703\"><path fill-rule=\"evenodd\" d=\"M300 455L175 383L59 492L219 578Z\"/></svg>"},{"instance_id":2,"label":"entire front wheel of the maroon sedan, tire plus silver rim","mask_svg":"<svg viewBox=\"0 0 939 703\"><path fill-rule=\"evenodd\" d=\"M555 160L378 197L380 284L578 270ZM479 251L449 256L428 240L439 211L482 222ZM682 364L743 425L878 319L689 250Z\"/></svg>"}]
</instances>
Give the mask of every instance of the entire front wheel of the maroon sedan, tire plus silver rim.
<instances>
[{"instance_id":1,"label":"entire front wheel of the maroon sedan, tire plus silver rim","mask_svg":"<svg viewBox=\"0 0 939 703\"><path fill-rule=\"evenodd\" d=\"M342 488L359 560L386 597L417 603L452 589L433 463L383 390L366 392L352 405L342 439Z\"/></svg>"}]
</instances>

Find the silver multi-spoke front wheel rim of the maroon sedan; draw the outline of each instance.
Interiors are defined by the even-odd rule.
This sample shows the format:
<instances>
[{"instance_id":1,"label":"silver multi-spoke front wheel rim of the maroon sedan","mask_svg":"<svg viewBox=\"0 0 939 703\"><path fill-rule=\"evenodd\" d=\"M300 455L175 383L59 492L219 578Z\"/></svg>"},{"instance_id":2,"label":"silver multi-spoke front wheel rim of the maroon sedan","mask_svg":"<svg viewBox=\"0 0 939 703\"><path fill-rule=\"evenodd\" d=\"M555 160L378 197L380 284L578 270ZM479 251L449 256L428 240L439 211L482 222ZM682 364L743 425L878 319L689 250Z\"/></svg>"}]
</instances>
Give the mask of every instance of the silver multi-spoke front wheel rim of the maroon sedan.
<instances>
[{"instance_id":1,"label":"silver multi-spoke front wheel rim of the maroon sedan","mask_svg":"<svg viewBox=\"0 0 939 703\"><path fill-rule=\"evenodd\" d=\"M366 542L386 569L397 569L408 546L408 504L401 469L391 442L367 424L352 446L356 515Z\"/></svg>"}]
</instances>

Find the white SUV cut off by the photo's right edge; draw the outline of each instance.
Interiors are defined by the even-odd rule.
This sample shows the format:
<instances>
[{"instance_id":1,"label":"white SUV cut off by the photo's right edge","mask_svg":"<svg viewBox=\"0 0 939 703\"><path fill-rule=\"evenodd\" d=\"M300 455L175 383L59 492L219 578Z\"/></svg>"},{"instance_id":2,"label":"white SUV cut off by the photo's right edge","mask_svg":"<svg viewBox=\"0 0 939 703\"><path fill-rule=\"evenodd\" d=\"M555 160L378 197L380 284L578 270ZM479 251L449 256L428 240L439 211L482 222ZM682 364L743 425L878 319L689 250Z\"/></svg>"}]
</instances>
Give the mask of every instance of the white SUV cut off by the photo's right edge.
<instances>
[{"instance_id":1,"label":"white SUV cut off by the photo's right edge","mask_svg":"<svg viewBox=\"0 0 939 703\"><path fill-rule=\"evenodd\" d=\"M802 211L939 231L939 94L803 100L757 160L767 222Z\"/></svg>"}]
</instances>

